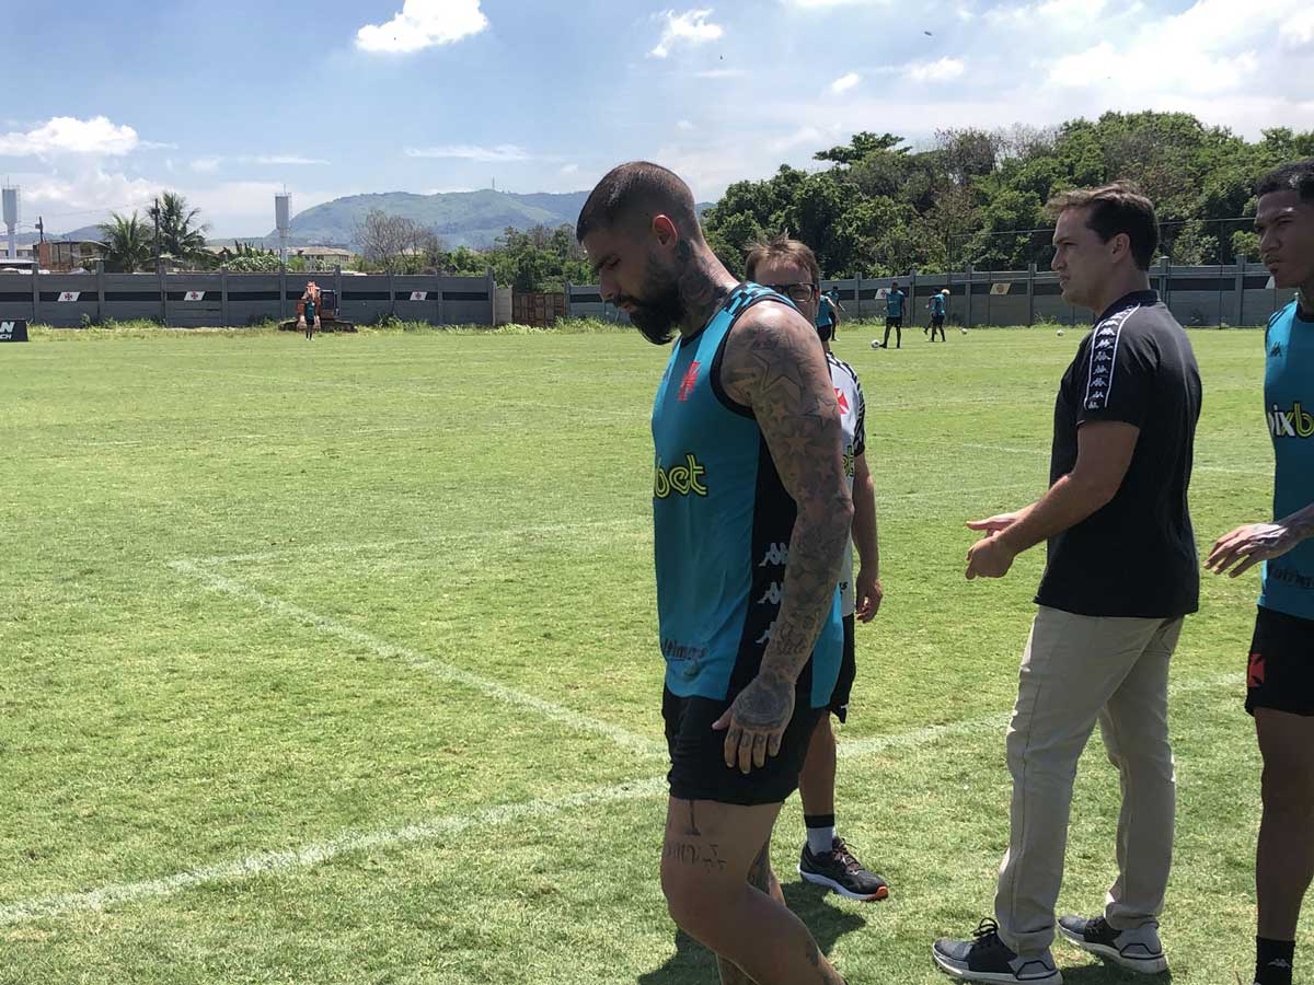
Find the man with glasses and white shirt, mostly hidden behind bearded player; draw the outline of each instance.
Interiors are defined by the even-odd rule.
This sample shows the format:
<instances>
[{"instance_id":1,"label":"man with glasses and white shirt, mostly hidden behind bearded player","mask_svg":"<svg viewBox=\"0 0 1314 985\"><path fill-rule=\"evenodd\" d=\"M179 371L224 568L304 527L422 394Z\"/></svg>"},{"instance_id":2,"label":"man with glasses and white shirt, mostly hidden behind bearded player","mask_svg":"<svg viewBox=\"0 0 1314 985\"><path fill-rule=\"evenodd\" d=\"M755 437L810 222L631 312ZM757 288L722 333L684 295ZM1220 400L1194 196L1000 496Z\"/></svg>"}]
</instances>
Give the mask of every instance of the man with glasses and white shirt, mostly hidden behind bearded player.
<instances>
[{"instance_id":1,"label":"man with glasses and white shirt, mostly hidden behind bearded player","mask_svg":"<svg viewBox=\"0 0 1314 985\"><path fill-rule=\"evenodd\" d=\"M748 255L750 281L763 284L787 296L805 317L817 307L817 284L821 268L805 243L788 236L775 236L761 243ZM820 296L825 298L825 294ZM870 623L880 608L884 590L880 587L880 553L876 537L876 491L867 470L866 402L858 374L853 366L830 352L830 336L819 327L830 366L830 382L840 402L840 420L844 426L844 464L853 492L853 538L845 545L844 565L840 569L840 615L844 619L844 662L840 679L830 696L829 711L841 722L849 717L849 696L857 674L857 647L854 616ZM853 545L858 545L862 566L853 577ZM799 873L809 883L825 885L850 900L884 900L890 894L886 880L866 869L853 851L836 834L834 825L834 772L836 745L830 714L817 720L816 732L808 743L808 758L799 774L799 796L803 800L803 823L807 843L799 860Z\"/></svg>"}]
</instances>

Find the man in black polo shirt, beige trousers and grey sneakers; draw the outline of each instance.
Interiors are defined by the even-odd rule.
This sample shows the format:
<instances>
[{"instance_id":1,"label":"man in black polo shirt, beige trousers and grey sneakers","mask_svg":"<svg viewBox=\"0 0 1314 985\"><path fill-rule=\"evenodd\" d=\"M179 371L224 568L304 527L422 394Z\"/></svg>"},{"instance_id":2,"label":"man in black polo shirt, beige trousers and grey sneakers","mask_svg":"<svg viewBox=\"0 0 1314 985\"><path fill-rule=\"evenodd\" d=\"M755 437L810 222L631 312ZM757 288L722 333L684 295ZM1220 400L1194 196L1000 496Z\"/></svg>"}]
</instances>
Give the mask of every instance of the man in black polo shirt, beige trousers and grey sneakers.
<instances>
[{"instance_id":1,"label":"man in black polo shirt, beige trousers and grey sneakers","mask_svg":"<svg viewBox=\"0 0 1314 985\"><path fill-rule=\"evenodd\" d=\"M1059 385L1049 492L968 524L984 533L967 554L968 578L1001 578L1017 554L1049 541L1008 729L1013 800L995 919L972 940L933 950L968 981L1056 985L1055 930L1125 968L1168 967L1158 934L1175 809L1168 661L1200 595L1187 507L1200 372L1150 290L1151 202L1114 184L1060 194L1050 209L1063 297L1099 322ZM1096 722L1122 780L1118 877L1100 917L1055 927L1072 780Z\"/></svg>"}]
</instances>

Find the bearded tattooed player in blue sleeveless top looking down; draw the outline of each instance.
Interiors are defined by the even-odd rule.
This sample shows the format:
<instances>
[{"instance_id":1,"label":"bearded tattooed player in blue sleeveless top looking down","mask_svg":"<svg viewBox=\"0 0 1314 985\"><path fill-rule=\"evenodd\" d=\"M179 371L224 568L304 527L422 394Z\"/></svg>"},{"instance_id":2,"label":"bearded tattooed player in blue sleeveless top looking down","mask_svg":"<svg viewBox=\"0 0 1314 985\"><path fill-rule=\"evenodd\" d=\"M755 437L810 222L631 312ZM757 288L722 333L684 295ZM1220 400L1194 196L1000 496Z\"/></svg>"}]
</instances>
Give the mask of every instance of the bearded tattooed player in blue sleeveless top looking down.
<instances>
[{"instance_id":1,"label":"bearded tattooed player in blue sleeveless top looking down","mask_svg":"<svg viewBox=\"0 0 1314 985\"><path fill-rule=\"evenodd\" d=\"M652 419L668 906L723 982L834 985L770 865L844 638L853 503L825 352L792 305L721 265L666 168L608 172L577 236L644 338L678 336Z\"/></svg>"}]
</instances>

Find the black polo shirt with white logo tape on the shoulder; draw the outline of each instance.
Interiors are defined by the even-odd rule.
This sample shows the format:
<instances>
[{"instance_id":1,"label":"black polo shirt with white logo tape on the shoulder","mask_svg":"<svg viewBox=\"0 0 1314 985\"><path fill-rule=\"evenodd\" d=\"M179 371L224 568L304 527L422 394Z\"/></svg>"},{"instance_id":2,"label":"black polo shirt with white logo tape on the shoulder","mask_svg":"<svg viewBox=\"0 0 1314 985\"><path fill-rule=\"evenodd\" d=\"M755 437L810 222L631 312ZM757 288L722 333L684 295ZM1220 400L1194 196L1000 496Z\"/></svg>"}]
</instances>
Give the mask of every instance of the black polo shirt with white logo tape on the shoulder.
<instances>
[{"instance_id":1,"label":"black polo shirt with white logo tape on the shoulder","mask_svg":"<svg viewBox=\"0 0 1314 985\"><path fill-rule=\"evenodd\" d=\"M1050 483L1076 465L1077 429L1141 428L1113 499L1050 538L1035 602L1083 616L1171 619L1200 605L1200 559L1187 490L1200 420L1190 340L1156 292L1135 292L1081 340L1054 406Z\"/></svg>"}]
</instances>

